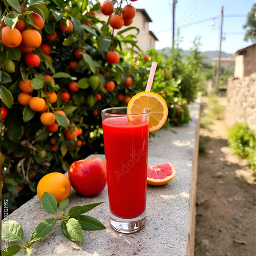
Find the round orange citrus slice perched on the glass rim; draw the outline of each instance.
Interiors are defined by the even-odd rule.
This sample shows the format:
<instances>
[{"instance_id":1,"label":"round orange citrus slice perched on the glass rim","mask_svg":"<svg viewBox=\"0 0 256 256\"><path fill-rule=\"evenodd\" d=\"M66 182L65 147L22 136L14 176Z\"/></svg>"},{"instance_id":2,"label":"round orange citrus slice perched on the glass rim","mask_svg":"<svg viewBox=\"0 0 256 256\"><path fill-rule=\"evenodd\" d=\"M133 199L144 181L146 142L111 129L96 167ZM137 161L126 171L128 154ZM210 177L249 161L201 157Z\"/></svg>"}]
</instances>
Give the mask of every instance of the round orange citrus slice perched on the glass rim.
<instances>
[{"instance_id":1,"label":"round orange citrus slice perched on the glass rim","mask_svg":"<svg viewBox=\"0 0 256 256\"><path fill-rule=\"evenodd\" d=\"M168 107L162 96L153 92L140 92L127 105L127 114L139 114L150 110L150 133L159 130L168 116Z\"/></svg>"}]
</instances>

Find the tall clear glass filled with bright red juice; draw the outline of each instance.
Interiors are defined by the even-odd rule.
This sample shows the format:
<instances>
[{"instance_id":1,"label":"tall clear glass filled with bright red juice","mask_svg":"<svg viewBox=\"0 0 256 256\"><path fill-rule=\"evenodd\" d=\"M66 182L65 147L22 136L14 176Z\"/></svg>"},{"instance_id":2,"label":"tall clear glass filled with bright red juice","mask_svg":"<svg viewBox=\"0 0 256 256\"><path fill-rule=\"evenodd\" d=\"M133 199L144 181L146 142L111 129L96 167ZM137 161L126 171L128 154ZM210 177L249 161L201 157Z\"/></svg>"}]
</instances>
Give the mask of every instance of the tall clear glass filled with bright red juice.
<instances>
[{"instance_id":1,"label":"tall clear glass filled with bright red juice","mask_svg":"<svg viewBox=\"0 0 256 256\"><path fill-rule=\"evenodd\" d=\"M110 223L134 233L146 222L146 178L150 111L127 115L127 108L101 112L108 178Z\"/></svg>"}]
</instances>

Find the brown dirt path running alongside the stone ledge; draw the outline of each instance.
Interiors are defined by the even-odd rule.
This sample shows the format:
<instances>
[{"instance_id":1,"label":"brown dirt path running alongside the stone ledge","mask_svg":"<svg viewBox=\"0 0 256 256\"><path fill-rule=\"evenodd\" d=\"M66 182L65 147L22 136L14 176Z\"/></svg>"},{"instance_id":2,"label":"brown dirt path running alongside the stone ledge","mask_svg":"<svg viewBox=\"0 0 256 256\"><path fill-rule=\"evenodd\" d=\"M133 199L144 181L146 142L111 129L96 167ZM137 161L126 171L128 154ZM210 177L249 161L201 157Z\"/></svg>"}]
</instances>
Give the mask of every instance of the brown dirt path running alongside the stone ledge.
<instances>
[{"instance_id":1,"label":"brown dirt path running alongside the stone ledge","mask_svg":"<svg viewBox=\"0 0 256 256\"><path fill-rule=\"evenodd\" d=\"M232 155L224 121L212 122L212 133L200 130L195 254L255 255L252 170Z\"/></svg>"}]
</instances>

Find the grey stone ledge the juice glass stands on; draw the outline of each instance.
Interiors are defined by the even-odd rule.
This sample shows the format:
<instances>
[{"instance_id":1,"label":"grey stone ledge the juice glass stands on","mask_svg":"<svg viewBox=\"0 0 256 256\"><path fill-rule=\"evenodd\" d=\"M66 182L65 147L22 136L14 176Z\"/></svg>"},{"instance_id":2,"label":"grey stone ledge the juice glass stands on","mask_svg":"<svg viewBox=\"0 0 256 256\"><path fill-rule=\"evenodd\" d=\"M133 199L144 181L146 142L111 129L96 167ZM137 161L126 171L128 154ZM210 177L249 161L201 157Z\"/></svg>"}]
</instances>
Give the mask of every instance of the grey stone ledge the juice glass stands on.
<instances>
[{"instance_id":1,"label":"grey stone ledge the juice glass stands on","mask_svg":"<svg viewBox=\"0 0 256 256\"><path fill-rule=\"evenodd\" d=\"M189 111L192 121L175 127L177 134L162 129L151 138L148 165L171 162L177 175L163 186L147 185L146 225L141 231L121 234L111 228L107 187L89 198L79 196L72 188L68 208L106 201L88 212L106 229L83 231L86 242L81 244L69 241L57 223L47 237L32 246L36 249L33 255L193 255L200 97L189 104ZM104 155L88 158L94 156L104 159ZM36 225L48 218L52 215L42 208L37 196L8 217L23 226L25 241Z\"/></svg>"}]
</instances>

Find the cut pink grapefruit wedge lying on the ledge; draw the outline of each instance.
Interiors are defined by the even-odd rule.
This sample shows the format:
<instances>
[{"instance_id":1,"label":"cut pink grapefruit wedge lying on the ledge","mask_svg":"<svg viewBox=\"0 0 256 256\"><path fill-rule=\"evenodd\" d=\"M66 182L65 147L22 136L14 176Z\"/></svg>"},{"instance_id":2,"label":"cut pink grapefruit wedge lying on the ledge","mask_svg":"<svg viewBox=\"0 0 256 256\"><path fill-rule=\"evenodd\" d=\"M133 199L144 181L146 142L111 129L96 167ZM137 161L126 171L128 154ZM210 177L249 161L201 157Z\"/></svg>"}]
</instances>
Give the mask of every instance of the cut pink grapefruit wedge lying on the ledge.
<instances>
[{"instance_id":1,"label":"cut pink grapefruit wedge lying on the ledge","mask_svg":"<svg viewBox=\"0 0 256 256\"><path fill-rule=\"evenodd\" d=\"M147 184L159 186L174 178L176 175L175 167L170 163L157 164L147 167Z\"/></svg>"}]
</instances>

